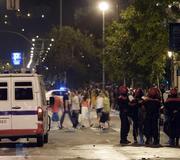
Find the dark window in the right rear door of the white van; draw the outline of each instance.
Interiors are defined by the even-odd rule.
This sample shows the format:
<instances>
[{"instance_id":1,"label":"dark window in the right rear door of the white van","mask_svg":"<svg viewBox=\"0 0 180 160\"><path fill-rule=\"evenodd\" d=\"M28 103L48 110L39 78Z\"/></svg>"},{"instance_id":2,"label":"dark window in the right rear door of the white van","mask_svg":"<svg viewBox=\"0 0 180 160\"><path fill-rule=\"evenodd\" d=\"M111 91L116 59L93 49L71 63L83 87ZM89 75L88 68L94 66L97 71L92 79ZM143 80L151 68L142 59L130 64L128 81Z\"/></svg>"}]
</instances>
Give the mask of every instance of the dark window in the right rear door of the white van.
<instances>
[{"instance_id":1,"label":"dark window in the right rear door of the white van","mask_svg":"<svg viewBox=\"0 0 180 160\"><path fill-rule=\"evenodd\" d=\"M32 82L15 82L15 100L33 100Z\"/></svg>"}]
</instances>

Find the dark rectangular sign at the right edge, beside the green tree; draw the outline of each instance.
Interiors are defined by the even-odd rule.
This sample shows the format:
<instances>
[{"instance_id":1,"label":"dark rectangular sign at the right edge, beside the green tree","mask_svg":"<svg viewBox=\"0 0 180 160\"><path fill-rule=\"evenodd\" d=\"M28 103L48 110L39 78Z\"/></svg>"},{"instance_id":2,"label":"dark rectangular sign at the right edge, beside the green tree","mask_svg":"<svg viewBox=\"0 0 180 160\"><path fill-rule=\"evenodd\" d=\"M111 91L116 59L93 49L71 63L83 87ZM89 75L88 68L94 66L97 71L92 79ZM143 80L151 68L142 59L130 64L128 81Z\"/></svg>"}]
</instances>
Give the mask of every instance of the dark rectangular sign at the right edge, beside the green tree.
<instances>
[{"instance_id":1,"label":"dark rectangular sign at the right edge, beside the green tree","mask_svg":"<svg viewBox=\"0 0 180 160\"><path fill-rule=\"evenodd\" d=\"M169 24L169 49L180 51L180 23Z\"/></svg>"}]
</instances>

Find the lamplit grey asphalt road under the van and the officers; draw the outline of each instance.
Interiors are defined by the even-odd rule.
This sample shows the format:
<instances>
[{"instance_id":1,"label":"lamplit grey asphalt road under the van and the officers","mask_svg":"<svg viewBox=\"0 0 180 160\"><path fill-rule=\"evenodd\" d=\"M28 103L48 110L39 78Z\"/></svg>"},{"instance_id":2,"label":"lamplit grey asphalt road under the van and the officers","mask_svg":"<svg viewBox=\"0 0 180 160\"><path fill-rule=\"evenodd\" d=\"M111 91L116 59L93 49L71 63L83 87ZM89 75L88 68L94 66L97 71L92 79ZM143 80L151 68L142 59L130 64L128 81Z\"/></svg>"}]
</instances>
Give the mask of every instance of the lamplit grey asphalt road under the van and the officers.
<instances>
[{"instance_id":1,"label":"lamplit grey asphalt road under the van and the officers","mask_svg":"<svg viewBox=\"0 0 180 160\"><path fill-rule=\"evenodd\" d=\"M72 130L66 119L62 130L52 129L49 143L37 147L35 140L0 143L0 160L180 160L180 148L167 147L167 137L161 132L162 146L119 144L119 118L112 114L109 130L86 128ZM95 120L94 120L95 121ZM131 133L129 140L132 141Z\"/></svg>"}]
</instances>

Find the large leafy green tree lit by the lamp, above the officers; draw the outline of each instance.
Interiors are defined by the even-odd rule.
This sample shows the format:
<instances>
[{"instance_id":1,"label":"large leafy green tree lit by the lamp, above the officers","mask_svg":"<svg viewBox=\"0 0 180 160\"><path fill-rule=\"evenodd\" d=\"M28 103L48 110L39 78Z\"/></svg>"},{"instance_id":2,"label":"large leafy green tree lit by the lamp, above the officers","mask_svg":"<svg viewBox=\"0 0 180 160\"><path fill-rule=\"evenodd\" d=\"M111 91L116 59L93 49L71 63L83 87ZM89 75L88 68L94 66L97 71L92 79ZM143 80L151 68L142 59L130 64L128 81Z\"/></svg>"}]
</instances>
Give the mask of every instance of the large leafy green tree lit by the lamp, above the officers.
<instances>
[{"instance_id":1,"label":"large leafy green tree lit by the lamp, above the officers","mask_svg":"<svg viewBox=\"0 0 180 160\"><path fill-rule=\"evenodd\" d=\"M111 78L133 79L141 86L163 78L168 47L166 22L173 20L167 12L168 4L164 0L135 0L121 13L120 20L108 27L106 68Z\"/></svg>"}]
</instances>

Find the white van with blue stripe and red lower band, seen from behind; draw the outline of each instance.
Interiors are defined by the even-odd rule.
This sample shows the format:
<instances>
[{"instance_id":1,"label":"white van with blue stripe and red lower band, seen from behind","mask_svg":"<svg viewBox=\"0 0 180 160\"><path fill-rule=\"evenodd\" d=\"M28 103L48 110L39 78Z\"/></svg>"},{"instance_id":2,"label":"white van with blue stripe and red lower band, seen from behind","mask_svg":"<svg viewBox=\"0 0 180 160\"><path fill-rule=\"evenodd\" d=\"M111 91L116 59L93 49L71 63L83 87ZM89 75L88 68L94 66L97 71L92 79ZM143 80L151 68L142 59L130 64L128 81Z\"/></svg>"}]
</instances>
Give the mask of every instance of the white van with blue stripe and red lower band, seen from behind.
<instances>
[{"instance_id":1,"label":"white van with blue stripe and red lower band, seen from behind","mask_svg":"<svg viewBox=\"0 0 180 160\"><path fill-rule=\"evenodd\" d=\"M37 138L37 145L43 146L49 129L42 77L0 74L0 139Z\"/></svg>"}]
</instances>

